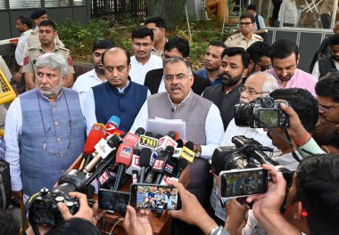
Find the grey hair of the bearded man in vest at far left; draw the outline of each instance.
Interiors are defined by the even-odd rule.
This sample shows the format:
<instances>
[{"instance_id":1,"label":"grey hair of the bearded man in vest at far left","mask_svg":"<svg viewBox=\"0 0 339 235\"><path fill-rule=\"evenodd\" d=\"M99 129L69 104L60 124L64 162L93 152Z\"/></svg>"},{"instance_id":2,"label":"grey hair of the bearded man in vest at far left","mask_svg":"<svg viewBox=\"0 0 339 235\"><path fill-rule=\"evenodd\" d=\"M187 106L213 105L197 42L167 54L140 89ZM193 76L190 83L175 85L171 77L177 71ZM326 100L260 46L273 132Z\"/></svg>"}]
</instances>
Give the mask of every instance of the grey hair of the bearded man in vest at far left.
<instances>
[{"instance_id":1,"label":"grey hair of the bearded man in vest at far left","mask_svg":"<svg viewBox=\"0 0 339 235\"><path fill-rule=\"evenodd\" d=\"M66 76L68 72L66 60L57 53L45 53L40 55L37 58L36 67L37 69L47 67L52 70L59 70L62 77Z\"/></svg>"}]
</instances>

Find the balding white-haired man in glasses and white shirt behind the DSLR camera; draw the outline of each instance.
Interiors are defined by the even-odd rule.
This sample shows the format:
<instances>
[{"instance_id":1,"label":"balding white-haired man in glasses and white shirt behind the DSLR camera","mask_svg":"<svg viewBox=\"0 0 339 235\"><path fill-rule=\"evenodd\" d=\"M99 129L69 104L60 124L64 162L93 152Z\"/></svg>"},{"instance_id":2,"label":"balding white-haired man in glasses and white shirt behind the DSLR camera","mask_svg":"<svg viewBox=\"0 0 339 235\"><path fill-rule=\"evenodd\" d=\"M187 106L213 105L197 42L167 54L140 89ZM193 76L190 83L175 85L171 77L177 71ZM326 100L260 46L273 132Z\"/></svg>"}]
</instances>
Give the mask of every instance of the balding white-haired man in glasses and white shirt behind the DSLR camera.
<instances>
[{"instance_id":1,"label":"balding white-haired man in glasses and white shirt behind the DSLR camera","mask_svg":"<svg viewBox=\"0 0 339 235\"><path fill-rule=\"evenodd\" d=\"M243 87L242 87L243 88ZM244 83L244 89L240 89L240 102L250 102L264 95L269 95L272 91L278 89L277 79L270 74L257 72L248 77ZM254 129L250 127L236 126L235 118L233 118L227 126L226 132L222 138L220 146L233 146L232 137L236 135L245 135L248 138L255 138L258 142L265 146L274 148L269 137L262 129ZM219 202L219 190L216 182L213 182L211 198L208 211L209 215L219 224L226 220L225 208Z\"/></svg>"}]
</instances>

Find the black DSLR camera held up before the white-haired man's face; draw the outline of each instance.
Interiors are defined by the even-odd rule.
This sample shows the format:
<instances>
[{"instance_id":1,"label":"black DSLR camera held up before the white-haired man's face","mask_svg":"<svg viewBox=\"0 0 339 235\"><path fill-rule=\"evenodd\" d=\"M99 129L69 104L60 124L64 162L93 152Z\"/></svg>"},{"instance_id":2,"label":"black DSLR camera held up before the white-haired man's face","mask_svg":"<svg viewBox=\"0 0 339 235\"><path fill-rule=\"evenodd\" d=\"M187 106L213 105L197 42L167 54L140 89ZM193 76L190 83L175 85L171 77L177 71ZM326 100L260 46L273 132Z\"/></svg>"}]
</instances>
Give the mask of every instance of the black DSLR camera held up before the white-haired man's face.
<instances>
[{"instance_id":1,"label":"black DSLR camera held up before the white-haired man's face","mask_svg":"<svg viewBox=\"0 0 339 235\"><path fill-rule=\"evenodd\" d=\"M272 97L266 96L250 103L236 104L236 126L252 128L288 126L288 116L280 109L280 103L280 101L274 101ZM283 101L283 103L289 106L287 101Z\"/></svg>"}]
</instances>

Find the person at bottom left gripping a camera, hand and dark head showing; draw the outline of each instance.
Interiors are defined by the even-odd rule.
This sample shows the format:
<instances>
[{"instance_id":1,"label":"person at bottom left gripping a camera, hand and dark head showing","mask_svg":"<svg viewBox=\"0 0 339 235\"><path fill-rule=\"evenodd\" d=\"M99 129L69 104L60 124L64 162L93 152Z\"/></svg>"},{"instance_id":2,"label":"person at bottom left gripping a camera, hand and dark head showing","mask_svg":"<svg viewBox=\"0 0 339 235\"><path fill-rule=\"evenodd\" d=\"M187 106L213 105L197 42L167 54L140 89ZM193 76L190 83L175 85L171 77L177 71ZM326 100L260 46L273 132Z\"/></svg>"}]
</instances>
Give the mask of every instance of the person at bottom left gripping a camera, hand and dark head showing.
<instances>
[{"instance_id":1,"label":"person at bottom left gripping a camera, hand and dark head showing","mask_svg":"<svg viewBox=\"0 0 339 235\"><path fill-rule=\"evenodd\" d=\"M70 197L74 197L79 199L79 211L75 214L75 215L71 215L70 214L70 210L69 208L62 202L58 203L58 209L60 211L60 213L62 214L63 219L65 220L65 223L61 223L58 226L55 226L54 228L51 227L47 227L44 225L37 225L37 232L34 232L33 228L30 226L29 229L26 231L26 234L28 235L34 235L34 234L45 234L45 233L54 233L53 231L58 231L60 229L62 229L65 234L81 234L81 235L85 235L85 233L83 233L84 231L87 231L86 234L100 234L99 231L96 229L95 225L98 222L98 220L103 217L105 211L100 211L99 205L97 203L94 204L94 206L88 207L88 202L87 202L87 196L85 194L82 194L80 192L70 192ZM76 220L76 221L72 221L70 223L66 223L67 221L73 220L75 218L79 218L82 220L82 222L88 221L89 223L86 223L86 227L87 230L78 230L76 233L74 233L74 226L78 226L79 223L81 223L81 220ZM70 224L72 224L70 226ZM79 228L81 226L78 226ZM68 228L68 231L65 231L65 229ZM96 232L96 233L95 233ZM57 232L55 232L54 234L57 234Z\"/></svg>"}]
</instances>

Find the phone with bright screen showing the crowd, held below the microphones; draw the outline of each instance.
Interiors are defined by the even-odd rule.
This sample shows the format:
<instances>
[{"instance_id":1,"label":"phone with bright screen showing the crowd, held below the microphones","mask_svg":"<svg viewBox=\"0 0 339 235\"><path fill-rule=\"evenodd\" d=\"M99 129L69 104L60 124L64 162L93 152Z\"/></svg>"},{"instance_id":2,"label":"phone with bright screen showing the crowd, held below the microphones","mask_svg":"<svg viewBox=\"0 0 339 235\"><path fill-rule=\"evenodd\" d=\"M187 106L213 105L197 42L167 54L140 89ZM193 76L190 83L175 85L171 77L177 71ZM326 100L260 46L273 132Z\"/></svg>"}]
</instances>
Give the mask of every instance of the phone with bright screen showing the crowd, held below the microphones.
<instances>
[{"instance_id":1,"label":"phone with bright screen showing the crowd, held below the microphones","mask_svg":"<svg viewBox=\"0 0 339 235\"><path fill-rule=\"evenodd\" d=\"M181 199L173 186L136 183L130 186L129 205L136 209L179 210Z\"/></svg>"}]
</instances>

